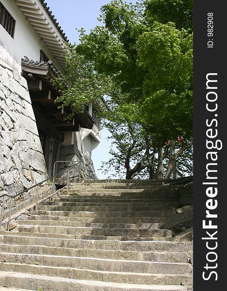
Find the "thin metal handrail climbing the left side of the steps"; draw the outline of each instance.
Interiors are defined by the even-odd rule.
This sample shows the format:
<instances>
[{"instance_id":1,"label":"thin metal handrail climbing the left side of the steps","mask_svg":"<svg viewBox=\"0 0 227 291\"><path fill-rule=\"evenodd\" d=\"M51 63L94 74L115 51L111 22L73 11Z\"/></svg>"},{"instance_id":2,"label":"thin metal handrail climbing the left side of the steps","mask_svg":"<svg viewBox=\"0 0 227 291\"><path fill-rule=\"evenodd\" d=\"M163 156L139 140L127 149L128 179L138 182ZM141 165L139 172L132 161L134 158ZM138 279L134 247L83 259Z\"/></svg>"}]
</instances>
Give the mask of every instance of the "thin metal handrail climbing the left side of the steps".
<instances>
[{"instance_id":1,"label":"thin metal handrail climbing the left side of the steps","mask_svg":"<svg viewBox=\"0 0 227 291\"><path fill-rule=\"evenodd\" d=\"M57 161L57 162L74 162L74 161ZM16 198L17 196L31 190L32 188L34 187L37 187L37 192L36 192L36 200L35 200L35 210L37 210L37 205L38 205L38 195L39 195L39 185L52 179L53 178L53 194L52 194L52 199L53 199L53 195L54 195L54 180L55 180L55 177L57 177L58 175L60 174L63 174L67 171L67 189L68 189L68 185L69 185L69 170L73 167L75 167L76 165L78 165L81 161L77 162L75 165L72 165L70 167L68 167L67 169L61 171L60 173L57 173L57 174L54 174L53 172L53 176L51 176L50 178L47 178L35 185L33 185L32 187L28 188L28 189L25 189L23 190L22 192L14 195L14 196L10 196L9 194L2 194L0 195L0 198L3 197L3 200L2 200L2 209L1 209L1 217L0 217L0 230L1 230L1 226L2 226L2 219L3 219L3 213L4 213L4 204L5 204L5 197L9 197L11 198L10 200L10 210L9 210L9 220L8 220L8 226L7 226L7 231L9 231L9 226L10 226L10 218L11 218L11 210L12 210L12 204L13 204L13 199ZM56 163L56 162L55 162ZM55 171L55 163L54 163L54 171ZM81 167L80 167L80 178L81 178Z\"/></svg>"}]
</instances>

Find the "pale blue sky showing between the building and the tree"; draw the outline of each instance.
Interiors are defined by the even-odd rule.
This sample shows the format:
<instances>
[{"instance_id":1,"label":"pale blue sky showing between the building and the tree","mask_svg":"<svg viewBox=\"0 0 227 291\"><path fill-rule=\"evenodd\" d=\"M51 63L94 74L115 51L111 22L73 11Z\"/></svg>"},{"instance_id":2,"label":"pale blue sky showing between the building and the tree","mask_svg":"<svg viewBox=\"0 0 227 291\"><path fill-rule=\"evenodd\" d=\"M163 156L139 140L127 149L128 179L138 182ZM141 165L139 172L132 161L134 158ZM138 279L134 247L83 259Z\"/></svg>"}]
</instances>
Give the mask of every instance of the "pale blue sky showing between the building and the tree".
<instances>
[{"instance_id":1,"label":"pale blue sky showing between the building and the tree","mask_svg":"<svg viewBox=\"0 0 227 291\"><path fill-rule=\"evenodd\" d=\"M109 3L110 0L46 0L46 2L69 41L78 43L79 32L76 28L83 27L86 32L89 32L96 25L100 25L97 20L100 7ZM128 0L128 2L135 3L136 0ZM108 131L102 129L102 143L92 151L92 159L99 179L107 178L98 171L98 168L101 162L108 161L111 157L109 154L111 142L106 139L108 135Z\"/></svg>"}]
</instances>

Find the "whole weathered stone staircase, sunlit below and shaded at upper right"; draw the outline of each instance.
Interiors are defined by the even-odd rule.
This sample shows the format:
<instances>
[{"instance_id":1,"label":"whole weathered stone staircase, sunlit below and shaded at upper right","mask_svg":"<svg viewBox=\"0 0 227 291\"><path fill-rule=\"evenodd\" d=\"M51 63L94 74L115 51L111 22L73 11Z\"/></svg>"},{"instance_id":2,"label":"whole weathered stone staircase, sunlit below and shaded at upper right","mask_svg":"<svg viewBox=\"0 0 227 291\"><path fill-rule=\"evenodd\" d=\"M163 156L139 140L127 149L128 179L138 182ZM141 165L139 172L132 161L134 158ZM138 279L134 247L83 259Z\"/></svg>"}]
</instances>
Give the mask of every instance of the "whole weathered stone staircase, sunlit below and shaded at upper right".
<instances>
[{"instance_id":1,"label":"whole weathered stone staircase, sunlit below and shaded at upper right","mask_svg":"<svg viewBox=\"0 0 227 291\"><path fill-rule=\"evenodd\" d=\"M192 242L176 242L171 230L160 228L179 207L178 186L163 184L80 180L58 190L29 220L16 220L14 231L0 231L0 286L191 290Z\"/></svg>"}]
</instances>

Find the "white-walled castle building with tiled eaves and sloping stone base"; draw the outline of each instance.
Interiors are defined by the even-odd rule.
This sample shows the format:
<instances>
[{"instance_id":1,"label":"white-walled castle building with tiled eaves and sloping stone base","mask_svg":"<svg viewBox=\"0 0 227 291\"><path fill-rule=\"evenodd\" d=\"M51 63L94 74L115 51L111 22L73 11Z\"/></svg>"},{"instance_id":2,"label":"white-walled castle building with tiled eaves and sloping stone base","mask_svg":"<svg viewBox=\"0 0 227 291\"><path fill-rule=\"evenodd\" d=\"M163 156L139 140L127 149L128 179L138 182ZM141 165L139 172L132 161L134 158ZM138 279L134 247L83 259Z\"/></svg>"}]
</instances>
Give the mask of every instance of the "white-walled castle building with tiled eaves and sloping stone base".
<instances>
[{"instance_id":1,"label":"white-walled castle building with tiled eaves and sloping stone base","mask_svg":"<svg viewBox=\"0 0 227 291\"><path fill-rule=\"evenodd\" d=\"M81 160L81 178L96 178L91 153L101 124L95 106L68 122L70 108L55 103L60 93L51 79L65 72L65 41L44 0L0 0L1 194L52 176L58 160Z\"/></svg>"}]
</instances>

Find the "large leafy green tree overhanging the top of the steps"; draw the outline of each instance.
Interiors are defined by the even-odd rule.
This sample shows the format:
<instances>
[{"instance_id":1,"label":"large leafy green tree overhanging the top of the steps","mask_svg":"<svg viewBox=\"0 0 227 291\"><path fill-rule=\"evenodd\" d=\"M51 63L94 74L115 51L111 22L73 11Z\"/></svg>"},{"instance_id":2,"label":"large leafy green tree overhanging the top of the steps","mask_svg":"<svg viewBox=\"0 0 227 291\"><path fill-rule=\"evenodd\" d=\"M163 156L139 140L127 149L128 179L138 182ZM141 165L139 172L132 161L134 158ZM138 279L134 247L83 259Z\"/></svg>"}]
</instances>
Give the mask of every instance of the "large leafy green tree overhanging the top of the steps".
<instances>
[{"instance_id":1,"label":"large leafy green tree overhanging the top of the steps","mask_svg":"<svg viewBox=\"0 0 227 291\"><path fill-rule=\"evenodd\" d=\"M117 157L117 153L115 157L116 161L124 161L126 176L133 177L139 170L132 173L132 169L144 159L141 164L145 166L147 162L150 168L156 167L153 177L162 178L167 152L171 161L166 165L169 176L179 156L192 145L192 1L141 0L134 5L112 0L101 7L99 20L103 26L89 34L81 30L80 44L69 47L67 74L57 80L63 90L58 101L71 104L78 111L89 101L106 96L110 104L105 115L109 129L117 127L121 132L125 124L125 134L129 134L126 140L121 133L118 136L112 131L114 139L120 138L125 147L124 158ZM69 89L65 90L65 83ZM134 152L141 146L133 144L130 128L135 129L135 137L143 135L139 138L143 140L144 153L146 141L152 144L156 159L152 165L144 153L134 159ZM184 146L177 153L179 136L183 136ZM164 146L168 140L175 146ZM143 169L141 164L138 169L143 171L146 167Z\"/></svg>"}]
</instances>

